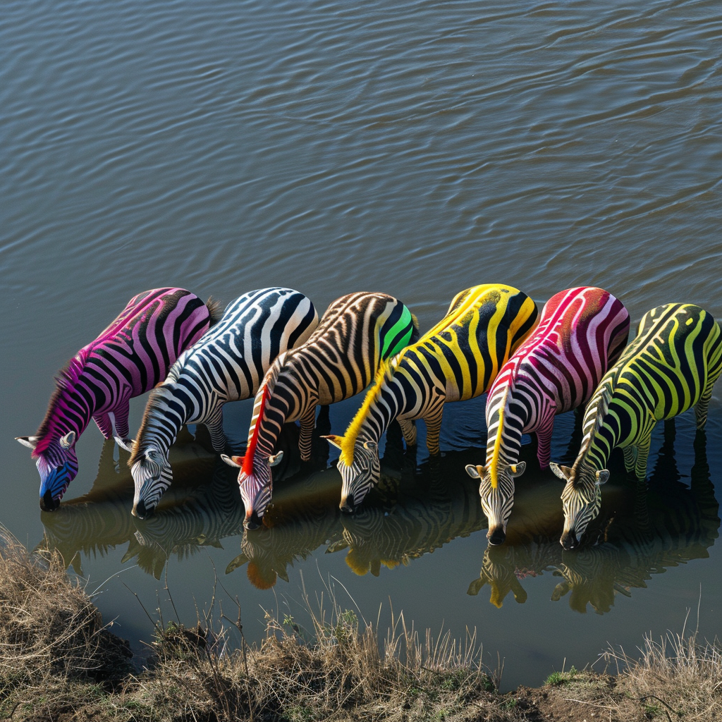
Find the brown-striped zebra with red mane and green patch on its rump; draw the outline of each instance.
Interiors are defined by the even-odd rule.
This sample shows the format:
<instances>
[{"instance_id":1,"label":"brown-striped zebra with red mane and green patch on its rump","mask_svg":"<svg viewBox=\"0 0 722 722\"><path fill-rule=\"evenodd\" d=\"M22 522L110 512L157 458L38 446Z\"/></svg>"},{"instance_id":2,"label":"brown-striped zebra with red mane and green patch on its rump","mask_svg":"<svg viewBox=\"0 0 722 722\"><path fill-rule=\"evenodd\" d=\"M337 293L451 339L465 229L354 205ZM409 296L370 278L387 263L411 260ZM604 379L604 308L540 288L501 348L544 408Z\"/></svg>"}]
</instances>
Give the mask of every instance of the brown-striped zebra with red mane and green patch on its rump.
<instances>
[{"instance_id":1,"label":"brown-striped zebra with red mane and green patch on its rump","mask_svg":"<svg viewBox=\"0 0 722 722\"><path fill-rule=\"evenodd\" d=\"M398 299L351 293L331 303L305 344L277 358L256 393L245 456L223 457L239 469L246 529L261 525L271 503L271 466L283 454L274 455L274 446L284 423L300 419L299 448L308 461L316 406L363 391L383 360L418 337L416 317Z\"/></svg>"}]
</instances>

